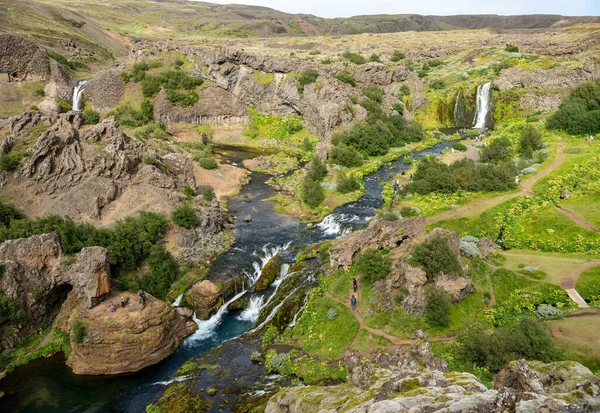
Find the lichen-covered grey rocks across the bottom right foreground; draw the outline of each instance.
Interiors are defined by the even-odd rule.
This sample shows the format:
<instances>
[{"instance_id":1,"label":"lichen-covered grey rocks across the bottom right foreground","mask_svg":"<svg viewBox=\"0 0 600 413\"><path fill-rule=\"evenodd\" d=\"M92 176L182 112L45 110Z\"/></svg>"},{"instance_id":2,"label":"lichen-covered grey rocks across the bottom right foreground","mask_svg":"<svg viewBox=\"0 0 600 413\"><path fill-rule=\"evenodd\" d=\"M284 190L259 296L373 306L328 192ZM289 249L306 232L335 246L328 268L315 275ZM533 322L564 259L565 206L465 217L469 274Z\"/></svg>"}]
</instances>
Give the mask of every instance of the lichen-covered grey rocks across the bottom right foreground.
<instances>
[{"instance_id":1,"label":"lichen-covered grey rocks across the bottom right foreground","mask_svg":"<svg viewBox=\"0 0 600 413\"><path fill-rule=\"evenodd\" d=\"M433 357L423 332L416 346L362 357L348 350L347 383L292 387L271 398L265 413L597 412L600 378L576 362L510 362L488 389L470 373L449 372Z\"/></svg>"}]
</instances>

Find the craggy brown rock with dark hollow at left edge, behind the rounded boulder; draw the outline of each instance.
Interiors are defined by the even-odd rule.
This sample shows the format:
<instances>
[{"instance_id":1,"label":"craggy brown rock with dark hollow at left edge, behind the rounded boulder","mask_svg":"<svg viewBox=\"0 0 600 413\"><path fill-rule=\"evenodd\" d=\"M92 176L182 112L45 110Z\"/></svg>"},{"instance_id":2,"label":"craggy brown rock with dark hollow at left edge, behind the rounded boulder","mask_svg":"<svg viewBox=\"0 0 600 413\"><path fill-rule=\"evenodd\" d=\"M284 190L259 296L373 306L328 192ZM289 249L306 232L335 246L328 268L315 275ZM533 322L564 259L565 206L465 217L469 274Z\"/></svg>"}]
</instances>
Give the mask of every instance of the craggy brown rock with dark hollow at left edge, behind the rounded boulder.
<instances>
[{"instance_id":1,"label":"craggy brown rock with dark hollow at left edge, behind the rounded boulder","mask_svg":"<svg viewBox=\"0 0 600 413\"><path fill-rule=\"evenodd\" d=\"M65 257L56 233L5 241L0 245L0 262L4 272L0 291L17 302L27 317L11 339L2 341L3 349L28 332L48 327L69 291L75 292L84 308L97 305L110 292L108 251L90 247Z\"/></svg>"}]
</instances>

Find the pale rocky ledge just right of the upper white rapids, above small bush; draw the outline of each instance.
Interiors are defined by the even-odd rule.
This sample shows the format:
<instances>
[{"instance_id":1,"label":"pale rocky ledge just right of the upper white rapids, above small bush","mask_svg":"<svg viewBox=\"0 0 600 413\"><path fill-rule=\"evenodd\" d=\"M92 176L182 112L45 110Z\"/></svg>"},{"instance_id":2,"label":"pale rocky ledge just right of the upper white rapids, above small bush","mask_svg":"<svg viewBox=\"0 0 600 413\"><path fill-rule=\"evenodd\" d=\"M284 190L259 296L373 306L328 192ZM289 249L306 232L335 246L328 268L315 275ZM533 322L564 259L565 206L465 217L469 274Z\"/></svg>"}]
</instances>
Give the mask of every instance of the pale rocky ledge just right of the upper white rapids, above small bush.
<instances>
[{"instance_id":1,"label":"pale rocky ledge just right of the upper white rapids, above small bush","mask_svg":"<svg viewBox=\"0 0 600 413\"><path fill-rule=\"evenodd\" d=\"M352 259L365 250L408 246L424 236L425 218L374 219L365 230L341 238L329 249L330 264L334 269L348 268Z\"/></svg>"}]
</instances>

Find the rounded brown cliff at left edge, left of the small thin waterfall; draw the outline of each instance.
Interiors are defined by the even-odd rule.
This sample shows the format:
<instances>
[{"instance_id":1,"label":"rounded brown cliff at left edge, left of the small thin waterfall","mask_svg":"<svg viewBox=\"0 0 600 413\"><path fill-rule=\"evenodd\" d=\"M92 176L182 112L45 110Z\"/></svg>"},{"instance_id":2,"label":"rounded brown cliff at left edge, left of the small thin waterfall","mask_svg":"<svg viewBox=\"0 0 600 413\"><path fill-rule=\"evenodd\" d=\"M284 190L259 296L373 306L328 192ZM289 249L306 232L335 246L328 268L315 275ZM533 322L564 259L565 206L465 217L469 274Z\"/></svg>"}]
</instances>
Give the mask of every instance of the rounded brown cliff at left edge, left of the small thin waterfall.
<instances>
[{"instance_id":1,"label":"rounded brown cliff at left edge, left of the small thin waterfall","mask_svg":"<svg viewBox=\"0 0 600 413\"><path fill-rule=\"evenodd\" d=\"M35 43L11 33L0 33L0 73L9 80L50 80L50 59Z\"/></svg>"}]
</instances>

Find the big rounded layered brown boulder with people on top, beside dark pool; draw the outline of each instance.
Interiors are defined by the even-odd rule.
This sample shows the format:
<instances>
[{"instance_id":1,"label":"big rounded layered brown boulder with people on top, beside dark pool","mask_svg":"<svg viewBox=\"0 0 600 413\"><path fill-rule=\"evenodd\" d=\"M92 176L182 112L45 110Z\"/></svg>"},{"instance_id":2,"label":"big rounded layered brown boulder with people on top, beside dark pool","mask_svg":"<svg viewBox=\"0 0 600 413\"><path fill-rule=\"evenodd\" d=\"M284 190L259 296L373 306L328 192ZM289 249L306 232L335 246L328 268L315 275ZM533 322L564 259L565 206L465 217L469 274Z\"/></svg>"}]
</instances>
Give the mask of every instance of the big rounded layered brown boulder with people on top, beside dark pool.
<instances>
[{"instance_id":1,"label":"big rounded layered brown boulder with people on top, beside dark pool","mask_svg":"<svg viewBox=\"0 0 600 413\"><path fill-rule=\"evenodd\" d=\"M69 320L83 323L87 334L81 343L71 341L67 364L75 374L100 375L134 372L171 355L181 341L197 329L191 310L173 308L147 295L145 307L129 300L111 312L105 301L91 310L77 307ZM119 296L120 296L119 295ZM115 296L115 304L119 296Z\"/></svg>"}]
</instances>

